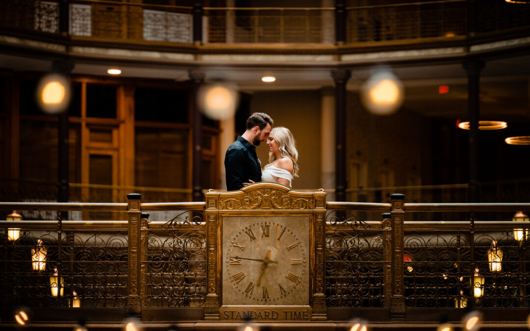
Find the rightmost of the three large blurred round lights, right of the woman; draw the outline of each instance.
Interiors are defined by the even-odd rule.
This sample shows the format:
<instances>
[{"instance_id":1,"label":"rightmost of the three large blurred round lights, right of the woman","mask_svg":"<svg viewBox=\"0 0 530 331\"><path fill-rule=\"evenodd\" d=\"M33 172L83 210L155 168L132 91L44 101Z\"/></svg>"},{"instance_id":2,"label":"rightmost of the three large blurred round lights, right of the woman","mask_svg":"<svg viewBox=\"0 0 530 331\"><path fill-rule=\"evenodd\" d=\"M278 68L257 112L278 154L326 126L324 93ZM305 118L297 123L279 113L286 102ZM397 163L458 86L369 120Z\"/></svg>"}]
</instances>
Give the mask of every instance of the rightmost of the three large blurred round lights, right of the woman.
<instances>
[{"instance_id":1,"label":"rightmost of the three large blurred round lights, right of the woman","mask_svg":"<svg viewBox=\"0 0 530 331\"><path fill-rule=\"evenodd\" d=\"M403 84L389 70L378 70L361 87L361 102L370 113L391 115L403 104Z\"/></svg>"}]
</instances>

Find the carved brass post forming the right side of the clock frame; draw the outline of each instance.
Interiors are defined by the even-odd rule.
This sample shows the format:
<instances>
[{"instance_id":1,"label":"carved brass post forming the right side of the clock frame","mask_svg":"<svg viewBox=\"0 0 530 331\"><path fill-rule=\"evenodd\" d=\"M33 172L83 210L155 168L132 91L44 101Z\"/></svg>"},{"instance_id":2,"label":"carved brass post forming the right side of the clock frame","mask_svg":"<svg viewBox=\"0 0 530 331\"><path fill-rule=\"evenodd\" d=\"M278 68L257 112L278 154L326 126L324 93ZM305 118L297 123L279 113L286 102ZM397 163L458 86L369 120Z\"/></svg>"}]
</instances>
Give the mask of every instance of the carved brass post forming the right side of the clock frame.
<instances>
[{"instance_id":1,"label":"carved brass post forming the right side of the clock frame","mask_svg":"<svg viewBox=\"0 0 530 331\"><path fill-rule=\"evenodd\" d=\"M322 190L322 189L321 189ZM328 319L328 308L325 296L325 228L326 228L326 193L319 191L313 194L315 199L315 265L313 282L313 314L312 320Z\"/></svg>"}]
</instances>

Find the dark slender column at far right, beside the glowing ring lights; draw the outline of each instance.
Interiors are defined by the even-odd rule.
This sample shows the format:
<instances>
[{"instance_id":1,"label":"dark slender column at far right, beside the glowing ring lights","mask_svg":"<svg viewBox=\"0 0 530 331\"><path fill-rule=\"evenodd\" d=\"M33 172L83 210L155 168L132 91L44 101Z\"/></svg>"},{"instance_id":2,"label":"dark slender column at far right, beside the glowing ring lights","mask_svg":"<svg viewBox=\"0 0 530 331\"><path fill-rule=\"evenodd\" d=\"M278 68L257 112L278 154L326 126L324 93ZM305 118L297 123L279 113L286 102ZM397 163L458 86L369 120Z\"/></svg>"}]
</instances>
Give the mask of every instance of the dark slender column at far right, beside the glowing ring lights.
<instances>
[{"instance_id":1,"label":"dark slender column at far right, beside the glowing ring lights","mask_svg":"<svg viewBox=\"0 0 530 331\"><path fill-rule=\"evenodd\" d=\"M469 118L469 195L468 202L479 202L477 183L479 181L479 113L480 113L480 71L484 62L480 60L465 61L467 73L467 117Z\"/></svg>"}]
</instances>

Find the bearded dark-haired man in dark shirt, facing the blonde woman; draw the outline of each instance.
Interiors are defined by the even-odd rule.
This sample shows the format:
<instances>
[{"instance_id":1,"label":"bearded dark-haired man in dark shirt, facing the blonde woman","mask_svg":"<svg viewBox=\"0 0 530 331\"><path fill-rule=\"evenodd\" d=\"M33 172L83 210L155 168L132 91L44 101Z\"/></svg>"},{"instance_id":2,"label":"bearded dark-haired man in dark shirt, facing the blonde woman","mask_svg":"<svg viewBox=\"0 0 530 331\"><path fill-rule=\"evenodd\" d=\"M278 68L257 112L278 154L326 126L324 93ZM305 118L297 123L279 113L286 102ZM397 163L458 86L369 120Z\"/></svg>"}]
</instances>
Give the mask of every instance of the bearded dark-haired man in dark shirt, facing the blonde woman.
<instances>
[{"instance_id":1,"label":"bearded dark-haired man in dark shirt, facing the blonde woman","mask_svg":"<svg viewBox=\"0 0 530 331\"><path fill-rule=\"evenodd\" d=\"M253 113L246 120L246 131L238 136L225 155L226 189L237 191L243 183L261 182L261 164L256 146L269 137L273 124L266 113Z\"/></svg>"}]
</instances>

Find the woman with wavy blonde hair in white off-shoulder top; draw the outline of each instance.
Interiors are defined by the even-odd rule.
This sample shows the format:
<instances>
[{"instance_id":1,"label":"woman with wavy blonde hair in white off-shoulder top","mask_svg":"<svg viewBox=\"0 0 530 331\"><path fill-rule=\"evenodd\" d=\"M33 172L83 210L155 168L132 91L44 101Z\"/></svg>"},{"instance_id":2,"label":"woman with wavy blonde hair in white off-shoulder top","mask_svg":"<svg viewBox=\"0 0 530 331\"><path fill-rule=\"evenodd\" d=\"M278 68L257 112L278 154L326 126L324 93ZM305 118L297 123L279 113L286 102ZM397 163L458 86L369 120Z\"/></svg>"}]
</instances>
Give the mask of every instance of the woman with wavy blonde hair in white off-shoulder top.
<instances>
[{"instance_id":1,"label":"woman with wavy blonde hair in white off-shoulder top","mask_svg":"<svg viewBox=\"0 0 530 331\"><path fill-rule=\"evenodd\" d=\"M291 186L293 177L298 177L298 151L295 139L289 129L284 127L273 128L267 139L269 147L269 164L261 173L262 182L276 182Z\"/></svg>"}]
</instances>

